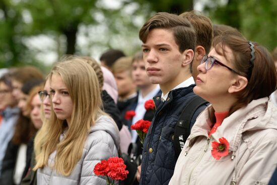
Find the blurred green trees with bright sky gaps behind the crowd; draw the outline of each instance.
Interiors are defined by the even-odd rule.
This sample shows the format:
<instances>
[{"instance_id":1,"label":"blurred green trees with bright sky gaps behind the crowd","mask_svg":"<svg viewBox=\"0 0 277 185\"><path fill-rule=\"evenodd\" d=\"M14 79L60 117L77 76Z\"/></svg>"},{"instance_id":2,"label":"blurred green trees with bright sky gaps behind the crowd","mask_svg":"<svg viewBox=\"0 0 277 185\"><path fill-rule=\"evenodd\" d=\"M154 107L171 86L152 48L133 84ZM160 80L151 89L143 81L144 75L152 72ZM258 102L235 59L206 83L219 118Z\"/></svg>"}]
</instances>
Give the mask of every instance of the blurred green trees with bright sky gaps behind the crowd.
<instances>
[{"instance_id":1,"label":"blurred green trees with bright sky gaps behind the crowd","mask_svg":"<svg viewBox=\"0 0 277 185\"><path fill-rule=\"evenodd\" d=\"M99 56L114 47L133 54L147 18L155 12L180 14L196 2L215 24L236 27L270 50L277 45L275 0L0 0L0 68L44 69L47 53Z\"/></svg>"}]
</instances>

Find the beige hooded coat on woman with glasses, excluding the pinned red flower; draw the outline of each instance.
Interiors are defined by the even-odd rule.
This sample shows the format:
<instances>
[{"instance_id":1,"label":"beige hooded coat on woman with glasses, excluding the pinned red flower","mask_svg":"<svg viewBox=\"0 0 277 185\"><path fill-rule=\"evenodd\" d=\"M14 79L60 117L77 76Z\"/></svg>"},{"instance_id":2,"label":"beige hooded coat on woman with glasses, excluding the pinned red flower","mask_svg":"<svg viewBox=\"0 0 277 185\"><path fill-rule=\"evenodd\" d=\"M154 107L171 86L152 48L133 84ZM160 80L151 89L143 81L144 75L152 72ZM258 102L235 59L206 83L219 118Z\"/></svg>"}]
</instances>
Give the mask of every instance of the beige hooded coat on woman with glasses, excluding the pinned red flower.
<instances>
[{"instance_id":1,"label":"beige hooded coat on woman with glasses, excluding the pinned red flower","mask_svg":"<svg viewBox=\"0 0 277 185\"><path fill-rule=\"evenodd\" d=\"M267 184L277 165L277 108L268 98L253 100L225 118L207 139L207 109L197 118L169 184ZM229 155L216 160L212 142L224 137Z\"/></svg>"}]
</instances>

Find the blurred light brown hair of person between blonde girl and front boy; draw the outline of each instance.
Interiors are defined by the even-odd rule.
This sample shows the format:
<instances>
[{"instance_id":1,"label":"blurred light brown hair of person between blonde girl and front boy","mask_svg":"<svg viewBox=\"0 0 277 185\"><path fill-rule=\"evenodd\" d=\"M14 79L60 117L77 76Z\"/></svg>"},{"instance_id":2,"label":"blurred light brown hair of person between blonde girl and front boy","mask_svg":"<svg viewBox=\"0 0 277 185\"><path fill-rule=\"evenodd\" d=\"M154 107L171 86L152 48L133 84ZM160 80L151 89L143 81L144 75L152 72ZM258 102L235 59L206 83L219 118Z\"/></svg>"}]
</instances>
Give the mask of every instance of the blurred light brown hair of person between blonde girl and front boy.
<instances>
[{"instance_id":1,"label":"blurred light brown hair of person between blonde girl and front boy","mask_svg":"<svg viewBox=\"0 0 277 185\"><path fill-rule=\"evenodd\" d=\"M132 71L132 57L129 56L123 56L118 58L115 63L112 65L112 73L121 73L121 72L129 72L129 75L131 77L131 71Z\"/></svg>"}]
</instances>

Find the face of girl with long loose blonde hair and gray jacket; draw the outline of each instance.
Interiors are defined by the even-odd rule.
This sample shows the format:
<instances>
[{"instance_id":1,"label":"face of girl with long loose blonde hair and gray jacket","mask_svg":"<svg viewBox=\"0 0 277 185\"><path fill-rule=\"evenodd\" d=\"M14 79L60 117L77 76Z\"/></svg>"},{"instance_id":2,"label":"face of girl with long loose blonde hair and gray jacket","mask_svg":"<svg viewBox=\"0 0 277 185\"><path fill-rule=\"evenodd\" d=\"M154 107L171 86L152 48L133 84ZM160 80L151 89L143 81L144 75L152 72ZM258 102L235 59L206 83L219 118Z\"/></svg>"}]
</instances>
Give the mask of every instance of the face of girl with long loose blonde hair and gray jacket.
<instances>
[{"instance_id":1,"label":"face of girl with long loose blonde hair and gray jacket","mask_svg":"<svg viewBox=\"0 0 277 185\"><path fill-rule=\"evenodd\" d=\"M67 87L58 74L53 74L51 77L50 95L52 98L53 110L57 118L66 120L67 124L69 124L73 111L73 102Z\"/></svg>"}]
</instances>

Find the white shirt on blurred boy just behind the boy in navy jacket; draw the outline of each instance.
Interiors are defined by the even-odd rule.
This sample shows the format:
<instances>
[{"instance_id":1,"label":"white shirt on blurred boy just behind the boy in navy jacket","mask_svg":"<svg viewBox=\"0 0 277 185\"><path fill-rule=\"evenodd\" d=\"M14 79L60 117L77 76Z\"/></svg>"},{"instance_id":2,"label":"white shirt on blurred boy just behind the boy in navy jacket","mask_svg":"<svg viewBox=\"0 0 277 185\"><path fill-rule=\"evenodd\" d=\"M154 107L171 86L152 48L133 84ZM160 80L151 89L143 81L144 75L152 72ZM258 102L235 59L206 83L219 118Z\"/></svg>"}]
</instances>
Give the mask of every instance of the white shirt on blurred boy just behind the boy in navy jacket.
<instances>
[{"instance_id":1,"label":"white shirt on blurred boy just behind the boy in navy jacket","mask_svg":"<svg viewBox=\"0 0 277 185\"><path fill-rule=\"evenodd\" d=\"M153 89L150 93L148 93L145 97L143 97L142 92L138 92L137 105L135 107L135 116L132 119L132 125L135 124L136 121L143 119L146 113L146 109L144 104L147 100L152 99L158 92L160 91L160 86L157 85L155 89ZM132 143L135 143L137 138L137 133L135 130L131 130L132 135Z\"/></svg>"}]
</instances>

